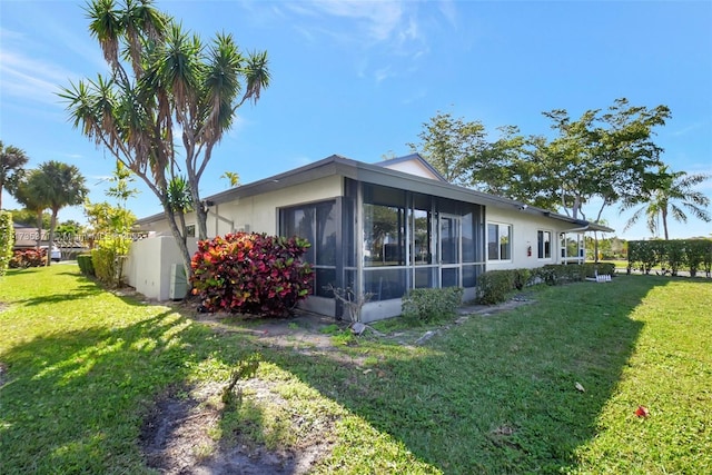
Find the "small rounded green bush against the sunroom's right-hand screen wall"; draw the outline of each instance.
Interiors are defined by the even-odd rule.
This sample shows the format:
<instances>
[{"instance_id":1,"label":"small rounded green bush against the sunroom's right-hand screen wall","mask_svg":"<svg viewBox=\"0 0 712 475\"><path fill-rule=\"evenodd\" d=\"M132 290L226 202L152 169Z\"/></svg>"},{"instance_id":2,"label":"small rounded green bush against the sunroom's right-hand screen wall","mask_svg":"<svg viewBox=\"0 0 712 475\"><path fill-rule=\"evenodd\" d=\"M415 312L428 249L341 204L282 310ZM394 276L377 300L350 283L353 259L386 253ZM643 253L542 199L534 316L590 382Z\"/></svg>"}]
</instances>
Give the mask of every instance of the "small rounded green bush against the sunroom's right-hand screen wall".
<instances>
[{"instance_id":1,"label":"small rounded green bush against the sunroom's right-hand screen wall","mask_svg":"<svg viewBox=\"0 0 712 475\"><path fill-rule=\"evenodd\" d=\"M404 318L426 324L456 315L463 301L461 287L414 288L403 297Z\"/></svg>"}]
</instances>

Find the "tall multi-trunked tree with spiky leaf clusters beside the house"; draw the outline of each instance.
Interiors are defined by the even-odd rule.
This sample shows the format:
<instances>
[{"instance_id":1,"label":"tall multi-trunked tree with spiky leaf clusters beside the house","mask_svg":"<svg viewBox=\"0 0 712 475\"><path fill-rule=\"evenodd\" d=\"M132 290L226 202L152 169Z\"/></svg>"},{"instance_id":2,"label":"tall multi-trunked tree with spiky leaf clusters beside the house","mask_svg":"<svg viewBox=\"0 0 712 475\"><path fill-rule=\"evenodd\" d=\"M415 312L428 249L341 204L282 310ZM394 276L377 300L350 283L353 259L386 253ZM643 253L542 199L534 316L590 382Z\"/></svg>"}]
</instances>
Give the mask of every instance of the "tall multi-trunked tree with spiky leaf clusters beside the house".
<instances>
[{"instance_id":1,"label":"tall multi-trunked tree with spiky leaf clusters beside the house","mask_svg":"<svg viewBox=\"0 0 712 475\"><path fill-rule=\"evenodd\" d=\"M158 197L189 268L169 184L177 170L185 170L198 236L206 239L199 181L237 108L257 101L268 87L267 53L244 56L230 34L217 34L206 46L151 0L126 0L122 6L91 0L87 17L111 73L72 83L60 97L75 127L105 146ZM176 130L180 138L174 140ZM182 150L177 151L177 142Z\"/></svg>"}]
</instances>

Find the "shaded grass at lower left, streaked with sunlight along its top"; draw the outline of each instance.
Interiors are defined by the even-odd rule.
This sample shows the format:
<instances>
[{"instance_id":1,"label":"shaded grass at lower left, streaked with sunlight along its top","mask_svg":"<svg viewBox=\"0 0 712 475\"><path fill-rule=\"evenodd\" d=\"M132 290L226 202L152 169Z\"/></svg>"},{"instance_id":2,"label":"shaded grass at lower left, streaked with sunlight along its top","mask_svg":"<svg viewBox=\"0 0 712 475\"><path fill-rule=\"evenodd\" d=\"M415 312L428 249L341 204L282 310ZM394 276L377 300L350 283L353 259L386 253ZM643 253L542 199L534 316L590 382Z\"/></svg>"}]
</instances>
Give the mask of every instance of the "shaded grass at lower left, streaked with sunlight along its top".
<instances>
[{"instance_id":1,"label":"shaded grass at lower left, streaked with sunlight along its top","mask_svg":"<svg viewBox=\"0 0 712 475\"><path fill-rule=\"evenodd\" d=\"M135 443L141 407L186 379L207 356L194 343L209 336L166 310L119 328L58 329L6 352L0 387L4 469L145 471Z\"/></svg>"}]
</instances>

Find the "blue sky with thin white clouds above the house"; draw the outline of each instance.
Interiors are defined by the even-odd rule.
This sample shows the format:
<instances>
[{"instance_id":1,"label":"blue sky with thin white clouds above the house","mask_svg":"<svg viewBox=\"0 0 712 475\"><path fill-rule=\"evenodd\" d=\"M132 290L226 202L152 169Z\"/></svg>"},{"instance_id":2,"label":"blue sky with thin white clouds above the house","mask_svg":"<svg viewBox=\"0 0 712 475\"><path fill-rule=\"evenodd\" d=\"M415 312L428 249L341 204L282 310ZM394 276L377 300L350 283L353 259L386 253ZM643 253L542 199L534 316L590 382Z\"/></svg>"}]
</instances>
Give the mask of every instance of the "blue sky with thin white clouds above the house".
<instances>
[{"instance_id":1,"label":"blue sky with thin white clouds above the house","mask_svg":"<svg viewBox=\"0 0 712 475\"><path fill-rule=\"evenodd\" d=\"M79 167L90 199L107 199L113 169L67 121L59 86L106 72L82 1L0 3L0 139L26 150L30 167ZM712 2L647 1L158 1L209 40L231 32L244 50L266 49L273 83L214 152L201 196L338 154L375 162L409 152L437 111L550 133L541 112L577 118L616 98L672 119L656 142L674 170L712 174ZM129 207L160 212L145 187ZM712 181L700 187L712 197ZM3 207L16 204L3 194ZM586 209L586 208L584 208ZM587 208L593 214L593 208ZM604 212L617 235L629 215ZM85 221L80 207L60 221ZM710 236L712 225L671 224L671 237Z\"/></svg>"}]
</instances>

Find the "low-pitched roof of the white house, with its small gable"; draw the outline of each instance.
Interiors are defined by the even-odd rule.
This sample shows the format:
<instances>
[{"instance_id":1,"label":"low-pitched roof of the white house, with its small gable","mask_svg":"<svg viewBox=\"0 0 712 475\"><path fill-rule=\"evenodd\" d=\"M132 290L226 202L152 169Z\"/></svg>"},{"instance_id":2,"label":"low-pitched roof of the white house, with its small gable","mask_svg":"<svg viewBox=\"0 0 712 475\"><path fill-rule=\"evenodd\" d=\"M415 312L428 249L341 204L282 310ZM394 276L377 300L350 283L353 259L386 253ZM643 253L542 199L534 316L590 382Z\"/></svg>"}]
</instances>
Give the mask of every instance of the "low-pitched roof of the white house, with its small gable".
<instances>
[{"instance_id":1,"label":"low-pitched roof of the white house, with its small gable","mask_svg":"<svg viewBox=\"0 0 712 475\"><path fill-rule=\"evenodd\" d=\"M276 191L280 188L300 185L309 182L319 178L330 176L343 176L358 181L364 181L373 185L382 185L392 188L417 190L425 195L433 195L443 198L454 199L458 201L472 202L477 205L492 206L496 208L514 208L521 212L528 215L538 215L557 219L561 221L570 222L572 225L572 231L603 231L613 232L613 229L589 222L583 219L574 219L572 217L560 215L554 211L550 211L542 208L528 206L522 201L503 198L495 195L488 195L482 191L476 191L469 188L453 185L437 174L437 171L427 164L439 179L425 178L417 175L407 174L404 171L395 170L384 167L384 164L394 162L394 160L421 160L427 164L419 155L413 154L406 157L400 157L393 160L385 160L379 164L366 164L363 161L353 160L350 158L343 157L340 155L332 155L330 157L306 165L304 167L296 168L294 170L285 171L279 175L275 175L269 178L265 178L251 184L238 186L216 195L205 198L205 201L209 201L210 205L220 205L224 202L230 202L238 198L247 198L256 195L261 195L269 191ZM165 219L164 214L152 215L146 218L137 220L137 226L147 226L156 221Z\"/></svg>"}]
</instances>

